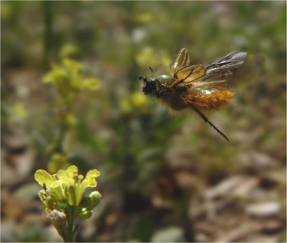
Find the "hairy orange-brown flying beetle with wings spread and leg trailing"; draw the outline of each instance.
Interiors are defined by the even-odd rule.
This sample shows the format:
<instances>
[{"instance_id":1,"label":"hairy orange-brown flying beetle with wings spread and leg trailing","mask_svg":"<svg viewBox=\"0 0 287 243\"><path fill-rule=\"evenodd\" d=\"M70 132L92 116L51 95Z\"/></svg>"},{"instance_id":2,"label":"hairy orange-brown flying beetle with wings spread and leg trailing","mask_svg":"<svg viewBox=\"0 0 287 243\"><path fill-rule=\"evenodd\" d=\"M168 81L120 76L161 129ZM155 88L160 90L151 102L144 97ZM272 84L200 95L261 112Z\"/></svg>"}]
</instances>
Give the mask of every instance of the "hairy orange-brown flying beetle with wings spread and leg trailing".
<instances>
[{"instance_id":1,"label":"hairy orange-brown flying beetle with wings spread and leg trailing","mask_svg":"<svg viewBox=\"0 0 287 243\"><path fill-rule=\"evenodd\" d=\"M191 109L214 128L227 141L229 139L202 113L218 111L233 100L230 88L254 79L265 58L247 56L247 52L231 52L206 67L190 65L187 49L179 50L170 67L153 70L148 77L139 76L144 82L142 91L162 101L174 111Z\"/></svg>"}]
</instances>

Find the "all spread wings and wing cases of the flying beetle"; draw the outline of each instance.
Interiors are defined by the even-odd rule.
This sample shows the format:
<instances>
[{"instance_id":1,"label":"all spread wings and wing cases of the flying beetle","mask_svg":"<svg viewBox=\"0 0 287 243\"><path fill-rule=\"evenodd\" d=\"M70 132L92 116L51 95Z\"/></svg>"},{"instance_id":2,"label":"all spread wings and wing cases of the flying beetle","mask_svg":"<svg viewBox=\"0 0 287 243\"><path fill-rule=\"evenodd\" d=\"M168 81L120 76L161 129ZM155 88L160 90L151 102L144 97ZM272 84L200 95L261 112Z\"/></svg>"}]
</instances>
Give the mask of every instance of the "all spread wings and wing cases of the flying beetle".
<instances>
[{"instance_id":1,"label":"all spread wings and wing cases of the flying beetle","mask_svg":"<svg viewBox=\"0 0 287 243\"><path fill-rule=\"evenodd\" d=\"M263 56L247 57L247 52L238 51L231 52L219 61L203 67L197 64L190 65L188 50L182 48L171 68L175 71L174 78L190 84L190 88L229 89L254 79L264 60Z\"/></svg>"}]
</instances>

